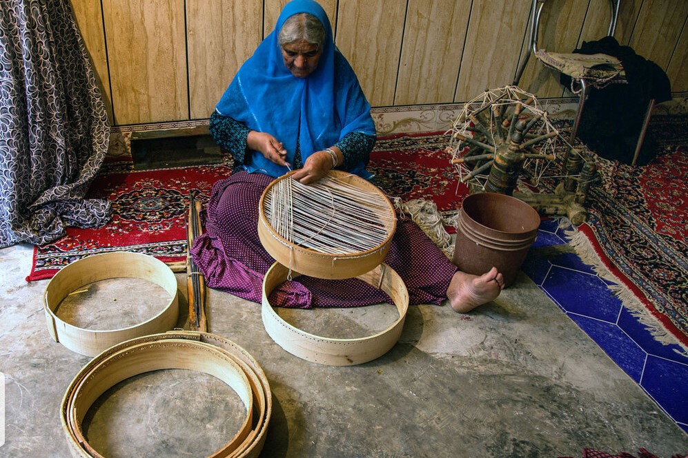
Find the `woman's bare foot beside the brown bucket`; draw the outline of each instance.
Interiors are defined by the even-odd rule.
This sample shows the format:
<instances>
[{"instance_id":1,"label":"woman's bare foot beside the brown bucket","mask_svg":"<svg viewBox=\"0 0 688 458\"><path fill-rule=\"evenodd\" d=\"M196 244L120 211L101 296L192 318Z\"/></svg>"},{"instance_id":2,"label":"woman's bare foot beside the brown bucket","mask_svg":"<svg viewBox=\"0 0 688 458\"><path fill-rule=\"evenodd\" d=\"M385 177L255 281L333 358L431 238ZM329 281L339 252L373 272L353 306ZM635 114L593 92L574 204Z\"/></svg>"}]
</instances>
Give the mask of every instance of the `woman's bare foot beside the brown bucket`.
<instances>
[{"instance_id":1,"label":"woman's bare foot beside the brown bucket","mask_svg":"<svg viewBox=\"0 0 688 458\"><path fill-rule=\"evenodd\" d=\"M482 275L457 271L451 278L446 297L455 312L466 313L497 298L504 289L504 277L496 267Z\"/></svg>"}]
</instances>

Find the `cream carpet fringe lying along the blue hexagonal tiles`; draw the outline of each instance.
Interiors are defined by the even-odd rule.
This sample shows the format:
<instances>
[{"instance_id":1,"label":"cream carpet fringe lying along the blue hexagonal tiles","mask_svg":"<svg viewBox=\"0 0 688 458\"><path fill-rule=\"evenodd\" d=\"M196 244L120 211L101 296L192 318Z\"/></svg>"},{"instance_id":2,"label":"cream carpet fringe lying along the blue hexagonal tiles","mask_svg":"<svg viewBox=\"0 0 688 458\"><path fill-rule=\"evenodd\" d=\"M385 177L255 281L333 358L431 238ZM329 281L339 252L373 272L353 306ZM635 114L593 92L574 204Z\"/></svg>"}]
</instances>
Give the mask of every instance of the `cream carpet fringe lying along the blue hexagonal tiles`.
<instances>
[{"instance_id":1,"label":"cream carpet fringe lying along the blue hexagonal tiles","mask_svg":"<svg viewBox=\"0 0 688 458\"><path fill-rule=\"evenodd\" d=\"M688 356L688 348L676 339L674 335L669 333L664 325L647 310L645 304L638 299L638 296L607 269L593 244L584 233L578 231L578 229L571 229L564 231L564 234L569 238L569 246L576 251L576 254L578 254L578 257L584 264L589 265L600 278L614 283L607 286L611 293L619 298L622 305L628 309L633 317L638 319L642 326L645 326L645 329L657 342L660 342L662 345L676 344L681 348L680 351L676 349L676 353Z\"/></svg>"}]
</instances>

